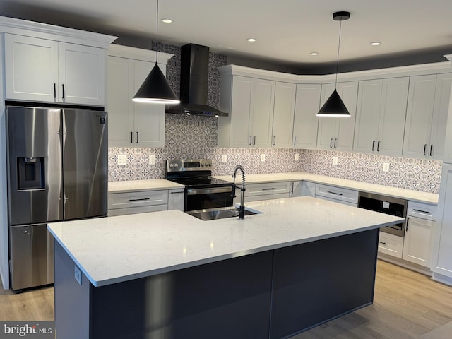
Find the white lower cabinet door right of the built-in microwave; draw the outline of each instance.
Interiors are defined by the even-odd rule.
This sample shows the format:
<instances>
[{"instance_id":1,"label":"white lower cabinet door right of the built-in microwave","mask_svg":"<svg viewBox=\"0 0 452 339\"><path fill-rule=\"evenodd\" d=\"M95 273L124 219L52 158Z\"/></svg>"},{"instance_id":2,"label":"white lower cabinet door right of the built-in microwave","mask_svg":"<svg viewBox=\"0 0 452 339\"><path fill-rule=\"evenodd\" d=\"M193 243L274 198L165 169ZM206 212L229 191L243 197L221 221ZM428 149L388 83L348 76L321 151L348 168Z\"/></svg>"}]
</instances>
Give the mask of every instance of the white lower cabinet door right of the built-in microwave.
<instances>
[{"instance_id":1,"label":"white lower cabinet door right of the built-in microwave","mask_svg":"<svg viewBox=\"0 0 452 339\"><path fill-rule=\"evenodd\" d=\"M404 260L429 267L433 225L430 220L408 217L403 238Z\"/></svg>"}]
</instances>

